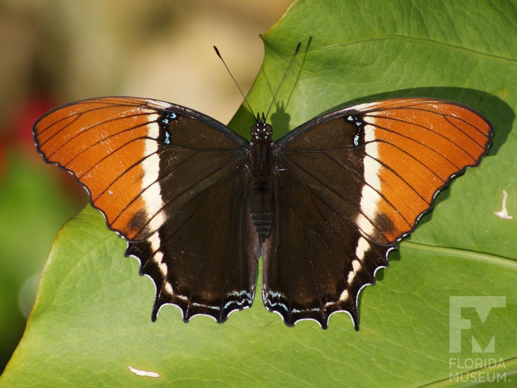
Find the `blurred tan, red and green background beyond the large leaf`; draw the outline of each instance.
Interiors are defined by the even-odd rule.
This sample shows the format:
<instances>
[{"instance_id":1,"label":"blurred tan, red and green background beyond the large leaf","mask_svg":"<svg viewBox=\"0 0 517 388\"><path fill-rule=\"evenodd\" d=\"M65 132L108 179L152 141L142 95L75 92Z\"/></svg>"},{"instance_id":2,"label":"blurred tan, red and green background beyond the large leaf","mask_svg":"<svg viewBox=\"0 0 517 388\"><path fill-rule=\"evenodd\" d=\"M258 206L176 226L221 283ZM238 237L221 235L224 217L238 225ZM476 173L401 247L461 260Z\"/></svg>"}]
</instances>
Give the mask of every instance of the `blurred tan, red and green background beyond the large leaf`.
<instances>
[{"instance_id":1,"label":"blurred tan, red and green background beyond the large leaf","mask_svg":"<svg viewBox=\"0 0 517 388\"><path fill-rule=\"evenodd\" d=\"M36 153L32 123L88 97L175 102L223 123L242 102L264 34L291 0L0 0L0 373L25 327L65 221L88 202Z\"/></svg>"}]
</instances>

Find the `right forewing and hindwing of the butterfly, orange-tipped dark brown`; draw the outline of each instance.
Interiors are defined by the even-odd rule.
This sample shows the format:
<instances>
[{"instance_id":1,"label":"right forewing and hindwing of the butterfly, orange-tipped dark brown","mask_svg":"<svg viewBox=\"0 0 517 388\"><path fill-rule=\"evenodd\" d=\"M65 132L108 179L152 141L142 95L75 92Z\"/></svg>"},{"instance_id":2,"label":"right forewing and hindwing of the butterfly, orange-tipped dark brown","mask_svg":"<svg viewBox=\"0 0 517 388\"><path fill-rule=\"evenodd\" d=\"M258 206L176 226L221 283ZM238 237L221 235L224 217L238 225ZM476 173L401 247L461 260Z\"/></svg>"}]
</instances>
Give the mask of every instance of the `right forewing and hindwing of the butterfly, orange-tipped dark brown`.
<instances>
[{"instance_id":1,"label":"right forewing and hindwing of the butterfly, orange-tipped dark brown","mask_svg":"<svg viewBox=\"0 0 517 388\"><path fill-rule=\"evenodd\" d=\"M451 177L477 166L492 127L458 103L364 103L317 117L276 142L276 208L263 250L263 301L287 325L325 329L387 266ZM275 258L275 260L272 260Z\"/></svg>"}]
</instances>

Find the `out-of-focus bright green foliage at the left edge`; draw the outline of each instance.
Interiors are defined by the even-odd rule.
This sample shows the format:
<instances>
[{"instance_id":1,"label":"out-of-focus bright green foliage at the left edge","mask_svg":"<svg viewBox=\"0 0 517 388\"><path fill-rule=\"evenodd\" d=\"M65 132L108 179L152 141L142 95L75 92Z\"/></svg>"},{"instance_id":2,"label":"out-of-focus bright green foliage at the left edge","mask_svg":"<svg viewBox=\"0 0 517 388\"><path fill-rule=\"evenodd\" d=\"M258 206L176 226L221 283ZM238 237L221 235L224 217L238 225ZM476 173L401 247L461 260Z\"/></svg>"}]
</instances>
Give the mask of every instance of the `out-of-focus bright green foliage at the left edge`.
<instances>
[{"instance_id":1,"label":"out-of-focus bright green foliage at the left edge","mask_svg":"<svg viewBox=\"0 0 517 388\"><path fill-rule=\"evenodd\" d=\"M63 182L26 154L11 146L0 172L0 370L22 337L56 230L79 209Z\"/></svg>"}]
</instances>

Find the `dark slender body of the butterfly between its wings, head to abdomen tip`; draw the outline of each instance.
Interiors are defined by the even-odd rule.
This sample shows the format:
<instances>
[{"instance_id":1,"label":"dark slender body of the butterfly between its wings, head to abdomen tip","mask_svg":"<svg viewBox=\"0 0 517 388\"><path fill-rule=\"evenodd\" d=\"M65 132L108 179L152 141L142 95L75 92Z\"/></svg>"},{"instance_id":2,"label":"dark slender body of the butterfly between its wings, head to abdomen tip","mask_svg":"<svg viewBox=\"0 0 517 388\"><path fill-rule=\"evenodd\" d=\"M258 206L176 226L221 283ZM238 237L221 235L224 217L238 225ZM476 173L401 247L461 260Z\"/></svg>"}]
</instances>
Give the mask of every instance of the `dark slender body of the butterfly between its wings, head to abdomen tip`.
<instances>
[{"instance_id":1,"label":"dark slender body of the butterfly between its wings, head to abdomen tip","mask_svg":"<svg viewBox=\"0 0 517 388\"><path fill-rule=\"evenodd\" d=\"M251 172L250 210L260 241L265 241L273 222L273 184L271 180L272 127L257 120L251 127L249 167Z\"/></svg>"}]
</instances>

